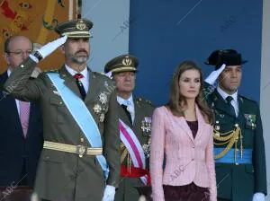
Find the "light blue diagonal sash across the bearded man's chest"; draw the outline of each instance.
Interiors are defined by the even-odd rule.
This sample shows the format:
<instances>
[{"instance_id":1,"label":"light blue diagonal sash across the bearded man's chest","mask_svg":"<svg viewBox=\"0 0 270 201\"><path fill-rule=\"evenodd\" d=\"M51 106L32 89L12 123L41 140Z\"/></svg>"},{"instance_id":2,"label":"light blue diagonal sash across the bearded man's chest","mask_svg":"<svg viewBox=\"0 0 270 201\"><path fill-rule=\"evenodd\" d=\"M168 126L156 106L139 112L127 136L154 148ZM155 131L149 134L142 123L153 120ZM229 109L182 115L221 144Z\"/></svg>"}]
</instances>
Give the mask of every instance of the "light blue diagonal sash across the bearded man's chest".
<instances>
[{"instance_id":1,"label":"light blue diagonal sash across the bearded man's chest","mask_svg":"<svg viewBox=\"0 0 270 201\"><path fill-rule=\"evenodd\" d=\"M102 148L103 144L99 129L90 111L86 108L85 102L64 84L64 80L59 77L59 74L47 73L47 75L56 87L59 95L65 102L67 109L76 120L77 125L81 128L91 146ZM107 179L109 168L106 159L103 155L96 155L95 157L103 169L104 178Z\"/></svg>"}]
</instances>

